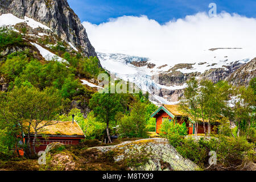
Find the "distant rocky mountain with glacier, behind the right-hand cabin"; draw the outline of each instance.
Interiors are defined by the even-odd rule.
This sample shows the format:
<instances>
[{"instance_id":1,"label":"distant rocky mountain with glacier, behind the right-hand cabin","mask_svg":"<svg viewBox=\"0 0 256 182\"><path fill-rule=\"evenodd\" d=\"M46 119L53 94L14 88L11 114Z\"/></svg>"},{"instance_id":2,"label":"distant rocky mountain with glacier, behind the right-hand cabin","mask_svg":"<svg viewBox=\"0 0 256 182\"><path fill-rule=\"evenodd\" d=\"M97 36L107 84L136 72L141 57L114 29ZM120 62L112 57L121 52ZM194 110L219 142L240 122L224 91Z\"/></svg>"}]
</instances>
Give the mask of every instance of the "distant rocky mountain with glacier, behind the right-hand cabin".
<instances>
[{"instance_id":1,"label":"distant rocky mountain with glacier, behind the right-hand cabin","mask_svg":"<svg viewBox=\"0 0 256 182\"><path fill-rule=\"evenodd\" d=\"M230 48L228 50L230 51ZM214 51L217 52L218 49ZM102 66L110 73L123 80L134 82L140 89L149 92L150 100L155 104L176 104L183 96L186 81L191 77L196 77L198 80L212 80L215 83L227 80L234 85L247 85L251 78L256 76L256 59L250 60L246 55L243 60L228 60L228 56L214 60L216 58L214 56L205 61L172 65L167 61L163 64L146 57L118 53L98 52L98 57Z\"/></svg>"}]
</instances>

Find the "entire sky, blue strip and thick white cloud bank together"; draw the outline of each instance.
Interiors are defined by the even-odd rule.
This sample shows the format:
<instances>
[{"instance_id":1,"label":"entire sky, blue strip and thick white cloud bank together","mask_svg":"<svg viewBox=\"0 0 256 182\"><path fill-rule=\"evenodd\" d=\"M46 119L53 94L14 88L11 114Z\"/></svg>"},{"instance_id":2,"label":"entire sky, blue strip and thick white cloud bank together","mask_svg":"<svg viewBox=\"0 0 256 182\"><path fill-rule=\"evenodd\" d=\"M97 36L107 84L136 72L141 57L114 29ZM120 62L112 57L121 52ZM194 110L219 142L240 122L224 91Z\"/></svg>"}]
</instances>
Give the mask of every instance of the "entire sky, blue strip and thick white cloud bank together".
<instances>
[{"instance_id":1,"label":"entire sky, blue strip and thick white cloud bank together","mask_svg":"<svg viewBox=\"0 0 256 182\"><path fill-rule=\"evenodd\" d=\"M211 57L251 59L256 49L256 1L68 0L97 52L193 63ZM210 48L242 48L208 51Z\"/></svg>"}]
</instances>

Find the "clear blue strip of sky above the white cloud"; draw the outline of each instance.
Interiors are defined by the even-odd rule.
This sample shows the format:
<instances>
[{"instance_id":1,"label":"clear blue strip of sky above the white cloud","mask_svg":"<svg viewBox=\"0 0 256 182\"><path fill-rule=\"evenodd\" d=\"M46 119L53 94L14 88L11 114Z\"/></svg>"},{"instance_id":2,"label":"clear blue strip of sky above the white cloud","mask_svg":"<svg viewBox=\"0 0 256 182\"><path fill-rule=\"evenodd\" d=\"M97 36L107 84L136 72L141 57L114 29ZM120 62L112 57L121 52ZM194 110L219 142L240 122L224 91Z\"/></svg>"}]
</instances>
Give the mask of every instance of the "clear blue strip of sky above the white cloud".
<instances>
[{"instance_id":1,"label":"clear blue strip of sky above the white cloud","mask_svg":"<svg viewBox=\"0 0 256 182\"><path fill-rule=\"evenodd\" d=\"M237 13L249 18L256 17L255 0L68 0L81 22L100 24L109 18L123 15L147 15L163 24L172 19L184 18L201 11L209 11L209 3L217 5L217 13Z\"/></svg>"}]
</instances>

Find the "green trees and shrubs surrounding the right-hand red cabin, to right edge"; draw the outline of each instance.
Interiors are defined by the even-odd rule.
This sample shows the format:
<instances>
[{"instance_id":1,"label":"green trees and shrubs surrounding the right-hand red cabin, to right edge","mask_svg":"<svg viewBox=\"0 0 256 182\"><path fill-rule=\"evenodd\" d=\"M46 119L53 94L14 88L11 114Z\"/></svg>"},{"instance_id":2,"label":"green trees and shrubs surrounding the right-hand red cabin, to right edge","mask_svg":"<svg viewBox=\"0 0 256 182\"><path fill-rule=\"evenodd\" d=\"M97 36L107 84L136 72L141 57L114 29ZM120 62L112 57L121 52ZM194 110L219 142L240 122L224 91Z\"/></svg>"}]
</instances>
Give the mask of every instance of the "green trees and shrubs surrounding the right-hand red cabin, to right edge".
<instances>
[{"instance_id":1,"label":"green trees and shrubs surrounding the right-hand red cabin, to right edge","mask_svg":"<svg viewBox=\"0 0 256 182\"><path fill-rule=\"evenodd\" d=\"M208 133L211 138L184 137L181 125L167 120L162 124L162 136L168 138L184 158L192 160L201 169L249 169L250 163L256 162L255 81L255 78L251 80L246 88L224 81L198 83L192 78L187 82L180 108L197 123L199 119L219 122L218 134ZM236 127L230 127L233 122ZM216 164L209 164L210 151L216 152Z\"/></svg>"}]
</instances>

